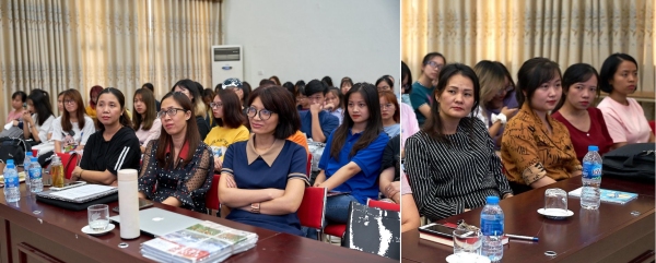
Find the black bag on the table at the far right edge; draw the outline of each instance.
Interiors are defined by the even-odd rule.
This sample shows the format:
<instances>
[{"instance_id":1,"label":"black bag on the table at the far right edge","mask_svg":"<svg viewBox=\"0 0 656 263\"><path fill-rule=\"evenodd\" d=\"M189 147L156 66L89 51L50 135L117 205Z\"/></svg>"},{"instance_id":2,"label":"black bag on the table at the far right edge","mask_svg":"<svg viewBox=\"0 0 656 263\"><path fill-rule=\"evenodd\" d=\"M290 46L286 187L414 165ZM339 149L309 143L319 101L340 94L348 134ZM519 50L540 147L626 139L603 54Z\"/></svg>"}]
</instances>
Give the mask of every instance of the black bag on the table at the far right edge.
<instances>
[{"instance_id":1,"label":"black bag on the table at the far right edge","mask_svg":"<svg viewBox=\"0 0 656 263\"><path fill-rule=\"evenodd\" d=\"M626 144L604 155L601 174L632 181L654 183L656 150L654 143Z\"/></svg>"}]
</instances>

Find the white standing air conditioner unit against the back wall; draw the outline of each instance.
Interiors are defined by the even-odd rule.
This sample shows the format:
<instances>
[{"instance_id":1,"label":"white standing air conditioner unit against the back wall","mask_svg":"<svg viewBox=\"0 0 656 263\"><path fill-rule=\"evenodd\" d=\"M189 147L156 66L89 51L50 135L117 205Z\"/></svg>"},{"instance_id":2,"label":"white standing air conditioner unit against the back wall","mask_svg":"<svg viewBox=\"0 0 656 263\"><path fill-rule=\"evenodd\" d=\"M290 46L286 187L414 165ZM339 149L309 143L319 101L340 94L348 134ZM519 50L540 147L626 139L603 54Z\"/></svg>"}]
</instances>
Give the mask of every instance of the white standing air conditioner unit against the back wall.
<instances>
[{"instance_id":1,"label":"white standing air conditioner unit against the back wall","mask_svg":"<svg viewBox=\"0 0 656 263\"><path fill-rule=\"evenodd\" d=\"M226 79L244 81L244 56L241 45L212 46L212 88Z\"/></svg>"}]
</instances>

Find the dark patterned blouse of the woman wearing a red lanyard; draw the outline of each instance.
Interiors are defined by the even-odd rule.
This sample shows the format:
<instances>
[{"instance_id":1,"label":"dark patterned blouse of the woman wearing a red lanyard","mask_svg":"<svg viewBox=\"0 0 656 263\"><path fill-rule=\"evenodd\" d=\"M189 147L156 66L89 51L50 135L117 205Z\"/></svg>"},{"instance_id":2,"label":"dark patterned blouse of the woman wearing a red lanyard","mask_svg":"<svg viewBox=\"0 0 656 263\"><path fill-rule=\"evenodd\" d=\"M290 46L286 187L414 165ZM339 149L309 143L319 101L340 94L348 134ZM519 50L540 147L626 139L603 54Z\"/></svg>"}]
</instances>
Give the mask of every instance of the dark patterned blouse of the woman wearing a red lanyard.
<instances>
[{"instance_id":1,"label":"dark patterned blouse of the woman wearing a red lanyard","mask_svg":"<svg viewBox=\"0 0 656 263\"><path fill-rule=\"evenodd\" d=\"M143 164L139 172L139 191L155 202L163 202L174 196L183 203L180 207L206 213L206 194L212 186L214 171L214 158L210 147L200 142L191 162L183 165L180 160L173 169L161 168L155 156L157 142L151 141L145 148L147 154L143 155ZM186 156L188 151L189 143L186 142L179 156ZM166 156L169 156L169 150L166 152Z\"/></svg>"}]
</instances>

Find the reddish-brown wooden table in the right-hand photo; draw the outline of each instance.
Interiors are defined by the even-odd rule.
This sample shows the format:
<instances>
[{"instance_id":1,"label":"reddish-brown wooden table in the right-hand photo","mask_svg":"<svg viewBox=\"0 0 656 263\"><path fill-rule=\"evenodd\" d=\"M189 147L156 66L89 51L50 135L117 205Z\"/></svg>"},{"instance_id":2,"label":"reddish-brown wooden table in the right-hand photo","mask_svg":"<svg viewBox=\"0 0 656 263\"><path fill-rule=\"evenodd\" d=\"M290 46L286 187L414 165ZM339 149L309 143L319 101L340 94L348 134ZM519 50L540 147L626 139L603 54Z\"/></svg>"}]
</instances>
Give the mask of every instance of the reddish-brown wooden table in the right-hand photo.
<instances>
[{"instance_id":1,"label":"reddish-brown wooden table in the right-hand photo","mask_svg":"<svg viewBox=\"0 0 656 263\"><path fill-rule=\"evenodd\" d=\"M500 202L505 215L507 234L538 237L539 242L511 239L504 246L504 263L508 262L630 262L654 252L654 186L604 178L604 189L639 193L637 199L624 204L601 203L598 211L581 207L577 198L567 200L574 216L553 220L537 213L543 206L544 190L561 188L572 191L582 186L581 178L572 178L528 191ZM452 216L441 223L479 225L482 207ZM639 212L640 215L632 215ZM419 238L418 230L401 235L402 262L444 262L453 253L452 247ZM555 258L544 255L554 251ZM652 258L653 259L653 258ZM649 260L651 262L651 260Z\"/></svg>"}]
</instances>

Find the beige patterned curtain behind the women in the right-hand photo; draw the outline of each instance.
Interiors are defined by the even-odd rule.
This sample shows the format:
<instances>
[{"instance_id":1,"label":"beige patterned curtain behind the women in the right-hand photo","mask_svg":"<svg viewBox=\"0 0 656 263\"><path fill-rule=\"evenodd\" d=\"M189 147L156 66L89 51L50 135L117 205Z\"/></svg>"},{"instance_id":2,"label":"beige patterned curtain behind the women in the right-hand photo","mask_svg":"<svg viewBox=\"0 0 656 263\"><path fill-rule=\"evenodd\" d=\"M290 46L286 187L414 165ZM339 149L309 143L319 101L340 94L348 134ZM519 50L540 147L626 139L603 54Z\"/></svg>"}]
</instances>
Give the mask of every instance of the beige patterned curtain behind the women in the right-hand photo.
<instances>
[{"instance_id":1,"label":"beige patterned curtain behind the women in the right-hand photo","mask_svg":"<svg viewBox=\"0 0 656 263\"><path fill-rule=\"evenodd\" d=\"M401 56L415 79L431 51L471 67L501 61L515 77L532 57L599 70L625 52L639 61L640 88L656 86L654 0L403 0L401 12Z\"/></svg>"}]
</instances>

